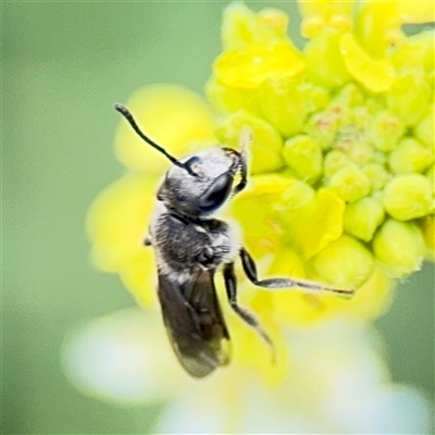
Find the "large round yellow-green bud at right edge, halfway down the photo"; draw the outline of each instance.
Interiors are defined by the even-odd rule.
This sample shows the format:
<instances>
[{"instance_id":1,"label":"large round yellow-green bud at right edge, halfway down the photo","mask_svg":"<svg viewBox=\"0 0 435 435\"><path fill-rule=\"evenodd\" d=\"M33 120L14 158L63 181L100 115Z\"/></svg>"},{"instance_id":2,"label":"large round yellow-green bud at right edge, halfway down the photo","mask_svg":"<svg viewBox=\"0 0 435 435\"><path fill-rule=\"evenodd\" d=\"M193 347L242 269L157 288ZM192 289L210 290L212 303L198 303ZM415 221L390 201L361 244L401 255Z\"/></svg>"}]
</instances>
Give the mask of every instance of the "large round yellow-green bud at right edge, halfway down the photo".
<instances>
[{"instance_id":1,"label":"large round yellow-green bud at right edge, halfway down the photo","mask_svg":"<svg viewBox=\"0 0 435 435\"><path fill-rule=\"evenodd\" d=\"M383 204L399 221L421 217L434 208L432 190L430 179L423 175L397 175L384 188Z\"/></svg>"}]
</instances>

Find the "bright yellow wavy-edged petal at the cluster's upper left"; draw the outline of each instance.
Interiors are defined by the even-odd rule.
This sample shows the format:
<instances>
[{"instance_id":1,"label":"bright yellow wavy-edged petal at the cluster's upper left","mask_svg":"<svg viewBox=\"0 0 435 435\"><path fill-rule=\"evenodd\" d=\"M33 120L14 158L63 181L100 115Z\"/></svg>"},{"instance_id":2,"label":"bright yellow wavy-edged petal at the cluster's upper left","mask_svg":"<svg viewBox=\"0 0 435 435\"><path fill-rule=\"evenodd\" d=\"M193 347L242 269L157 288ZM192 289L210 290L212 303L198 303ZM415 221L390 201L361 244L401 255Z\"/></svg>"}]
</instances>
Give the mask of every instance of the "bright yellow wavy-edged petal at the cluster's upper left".
<instances>
[{"instance_id":1,"label":"bright yellow wavy-edged petal at the cluster's upper left","mask_svg":"<svg viewBox=\"0 0 435 435\"><path fill-rule=\"evenodd\" d=\"M274 75L293 77L303 69L301 54L288 41L226 51L213 64L213 73L223 85L247 89L257 88Z\"/></svg>"}]
</instances>

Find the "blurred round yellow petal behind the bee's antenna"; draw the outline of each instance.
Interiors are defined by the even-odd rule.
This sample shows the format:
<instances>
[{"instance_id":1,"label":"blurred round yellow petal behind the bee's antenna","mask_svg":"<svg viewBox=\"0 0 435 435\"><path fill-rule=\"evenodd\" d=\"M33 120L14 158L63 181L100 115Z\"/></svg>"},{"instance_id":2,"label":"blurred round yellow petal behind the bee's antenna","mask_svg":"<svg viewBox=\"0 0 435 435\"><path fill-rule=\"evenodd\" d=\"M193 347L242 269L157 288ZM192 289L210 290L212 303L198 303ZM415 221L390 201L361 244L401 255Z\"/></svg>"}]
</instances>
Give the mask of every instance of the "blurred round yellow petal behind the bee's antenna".
<instances>
[{"instance_id":1,"label":"blurred round yellow petal behind the bee's antenna","mask_svg":"<svg viewBox=\"0 0 435 435\"><path fill-rule=\"evenodd\" d=\"M183 157L189 141L213 137L214 119L196 92L178 85L153 85L137 90L125 104L140 128L175 158ZM120 120L115 136L117 158L127 167L161 175L169 160L146 144Z\"/></svg>"}]
</instances>

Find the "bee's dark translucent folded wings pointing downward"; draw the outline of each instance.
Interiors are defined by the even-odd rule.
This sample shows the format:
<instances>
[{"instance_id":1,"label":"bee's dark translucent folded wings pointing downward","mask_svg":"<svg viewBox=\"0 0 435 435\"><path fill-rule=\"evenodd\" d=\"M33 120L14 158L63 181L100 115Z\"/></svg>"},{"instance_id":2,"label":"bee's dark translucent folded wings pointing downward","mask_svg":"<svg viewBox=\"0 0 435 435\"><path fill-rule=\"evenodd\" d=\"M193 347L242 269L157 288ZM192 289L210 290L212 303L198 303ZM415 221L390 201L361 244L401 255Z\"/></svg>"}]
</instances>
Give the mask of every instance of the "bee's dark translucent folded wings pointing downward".
<instances>
[{"instance_id":1,"label":"bee's dark translucent folded wings pointing downward","mask_svg":"<svg viewBox=\"0 0 435 435\"><path fill-rule=\"evenodd\" d=\"M229 335L213 275L212 271L199 271L181 285L159 273L159 299L172 347L195 377L229 362Z\"/></svg>"}]
</instances>

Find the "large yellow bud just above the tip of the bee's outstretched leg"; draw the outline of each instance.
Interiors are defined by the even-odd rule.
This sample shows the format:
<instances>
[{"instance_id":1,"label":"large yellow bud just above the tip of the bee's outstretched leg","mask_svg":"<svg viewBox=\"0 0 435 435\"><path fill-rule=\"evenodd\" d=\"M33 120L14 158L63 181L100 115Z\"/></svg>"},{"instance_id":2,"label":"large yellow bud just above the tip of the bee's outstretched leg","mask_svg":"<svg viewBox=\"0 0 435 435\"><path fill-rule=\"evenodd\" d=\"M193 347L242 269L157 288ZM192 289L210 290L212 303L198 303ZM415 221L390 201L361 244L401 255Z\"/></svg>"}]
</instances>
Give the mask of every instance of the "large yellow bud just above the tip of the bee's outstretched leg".
<instances>
[{"instance_id":1,"label":"large yellow bud just above the tip of the bee's outstretched leg","mask_svg":"<svg viewBox=\"0 0 435 435\"><path fill-rule=\"evenodd\" d=\"M362 285L371 275L374 262L362 244L343 235L319 252L312 265L326 283L346 288Z\"/></svg>"}]
</instances>

